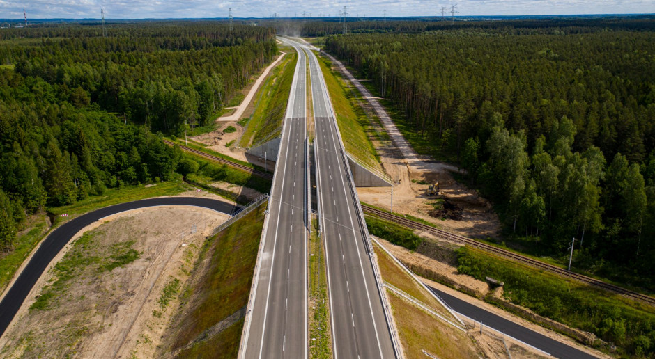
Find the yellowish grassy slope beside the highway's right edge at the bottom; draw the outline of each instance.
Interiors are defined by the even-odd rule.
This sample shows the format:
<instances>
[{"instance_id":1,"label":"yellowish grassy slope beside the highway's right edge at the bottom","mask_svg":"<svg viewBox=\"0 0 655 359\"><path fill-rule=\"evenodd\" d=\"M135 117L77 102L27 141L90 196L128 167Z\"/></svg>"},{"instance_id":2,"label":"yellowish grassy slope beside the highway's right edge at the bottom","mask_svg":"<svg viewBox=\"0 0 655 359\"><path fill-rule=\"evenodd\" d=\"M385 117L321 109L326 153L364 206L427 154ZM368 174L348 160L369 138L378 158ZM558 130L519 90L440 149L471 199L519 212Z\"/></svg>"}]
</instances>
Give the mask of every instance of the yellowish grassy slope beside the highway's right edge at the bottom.
<instances>
[{"instance_id":1,"label":"yellowish grassy slope beside the highway's right edge at the bottom","mask_svg":"<svg viewBox=\"0 0 655 359\"><path fill-rule=\"evenodd\" d=\"M380 264L380 274L385 282L413 296L417 301L449 320L454 320L435 298L420 287L383 250L377 245L375 248L378 264ZM429 312L390 289L387 289L387 296L406 358L426 358L423 350L438 358L477 358L479 356L479 349L466 333L433 317Z\"/></svg>"}]
</instances>

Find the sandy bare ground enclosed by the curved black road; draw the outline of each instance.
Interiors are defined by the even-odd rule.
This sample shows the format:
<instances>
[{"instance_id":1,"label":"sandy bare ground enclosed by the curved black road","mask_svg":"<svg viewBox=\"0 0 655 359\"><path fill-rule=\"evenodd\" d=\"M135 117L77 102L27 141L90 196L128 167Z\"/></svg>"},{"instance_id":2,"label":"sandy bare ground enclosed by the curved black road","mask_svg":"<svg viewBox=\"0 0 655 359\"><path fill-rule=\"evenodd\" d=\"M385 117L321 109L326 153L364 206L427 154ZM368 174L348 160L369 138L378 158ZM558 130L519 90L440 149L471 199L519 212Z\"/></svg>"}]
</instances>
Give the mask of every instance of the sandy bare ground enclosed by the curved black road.
<instances>
[{"instance_id":1,"label":"sandy bare ground enclosed by the curved black road","mask_svg":"<svg viewBox=\"0 0 655 359\"><path fill-rule=\"evenodd\" d=\"M73 247L70 252L86 258L75 276L49 300L48 309L26 310L36 294L57 278L49 271L40 280L18 314L20 320L3 335L1 356L152 356L174 307L162 308L162 289L173 278L183 285L204 236L225 219L226 215L208 209L171 206L125 212L89 226L95 228L89 232L92 245ZM191 234L193 224L196 232ZM114 258L112 248L131 241L131 248L140 253L136 260L111 271L98 268L98 262ZM160 312L157 317L155 310Z\"/></svg>"}]
</instances>

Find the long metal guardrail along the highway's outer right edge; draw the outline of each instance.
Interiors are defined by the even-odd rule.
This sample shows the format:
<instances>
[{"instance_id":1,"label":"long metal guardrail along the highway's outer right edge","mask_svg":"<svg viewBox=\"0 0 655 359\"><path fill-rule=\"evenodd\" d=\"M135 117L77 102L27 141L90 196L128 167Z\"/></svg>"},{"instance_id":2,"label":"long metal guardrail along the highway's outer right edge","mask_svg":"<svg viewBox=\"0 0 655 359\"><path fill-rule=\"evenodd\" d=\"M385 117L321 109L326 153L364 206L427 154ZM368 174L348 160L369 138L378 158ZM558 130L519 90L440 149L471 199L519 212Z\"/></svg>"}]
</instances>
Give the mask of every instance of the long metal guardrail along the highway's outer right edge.
<instances>
[{"instance_id":1,"label":"long metal guardrail along the highway's outer right edge","mask_svg":"<svg viewBox=\"0 0 655 359\"><path fill-rule=\"evenodd\" d=\"M316 58L316 55L312 53L312 56L318 63L318 58ZM318 70L321 71L320 65L318 66ZM334 128L337 130L337 138L339 138L339 147L341 149L341 158L344 161L344 166L346 167L346 176L348 177L348 187L350 188L350 193L353 194L353 199L354 199L353 202L355 202L355 210L357 211L357 220L360 222L362 228L362 235L364 236L363 238L364 246L366 246L367 250L369 251L369 260L371 261L371 266L373 267L373 274L374 277L376 278L378 295L380 296L380 301L382 301L383 304L385 319L387 321L387 328L389 328L389 331L391 333L392 345L394 346L394 351L396 352L396 356L400 359L403 359L404 355L400 346L400 338L398 335L398 330L396 329L396 324L394 323L394 319L391 314L391 305L387 301L387 295L383 288L382 276L380 275L380 270L378 269L378 265L375 259L375 253L373 252L373 244L371 244L371 239L369 238L369 230L367 229L366 221L364 221L364 212L362 211L362 206L360 205L360 198L359 196L357 196L357 190L355 190L355 182L353 182L353 174L350 173L350 166L348 166L348 159L346 159L346 151L344 150L344 140L343 138L341 138L341 133L339 133L339 125L337 125L337 120L334 117L334 106L332 105L332 99L330 98L330 93L327 90L327 85L325 85L325 79L323 78L323 76L320 76L318 78L321 79L321 86L323 87L323 91L325 91L325 94L327 94L327 102L330 104L329 108L332 111L332 117L331 117L332 125L334 125ZM320 196L318 197L320 198Z\"/></svg>"}]
</instances>

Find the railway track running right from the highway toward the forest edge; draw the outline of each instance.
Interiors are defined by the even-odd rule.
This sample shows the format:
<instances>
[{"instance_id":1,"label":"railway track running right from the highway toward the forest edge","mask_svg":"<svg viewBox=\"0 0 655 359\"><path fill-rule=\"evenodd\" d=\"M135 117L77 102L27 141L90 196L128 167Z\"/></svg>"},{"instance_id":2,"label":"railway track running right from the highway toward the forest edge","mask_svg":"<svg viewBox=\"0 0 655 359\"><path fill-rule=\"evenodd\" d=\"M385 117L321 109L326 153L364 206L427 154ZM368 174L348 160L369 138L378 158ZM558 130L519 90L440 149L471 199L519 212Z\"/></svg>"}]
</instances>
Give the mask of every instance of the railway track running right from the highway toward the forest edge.
<instances>
[{"instance_id":1,"label":"railway track running right from the highway toward the forest edge","mask_svg":"<svg viewBox=\"0 0 655 359\"><path fill-rule=\"evenodd\" d=\"M578 273L573 273L569 272L566 269L562 269L558 266L554 266L553 264L548 264L545 262L541 262L539 260L535 260L530 257L525 257L523 255L519 255L517 253L511 252L509 250L504 250L502 248L498 248L495 246L491 246L490 244L482 243L479 241L475 241L474 239L470 239L467 237L460 236L459 234L453 234L450 232L446 232L445 230L440 230L438 228L433 228L429 225L425 225L423 223L419 223L416 221L412 221L410 219L401 217L401 216L396 216L395 214L389 214L384 211L380 211L380 209L376 209L373 207L369 207L366 205L362 205L362 210L364 210L365 214L369 214L372 216L376 216L378 218L384 219L386 221L394 222L399 225L403 225L404 227L411 228L413 230L422 230L425 232L429 232L431 234L436 235L437 237L441 237L443 239L448 239L450 241L455 241L457 243L461 244L466 244L468 246L471 246L473 248L478 248L481 250L484 250L488 253L493 253L494 255L499 255L500 257L507 258L509 260L514 260L515 262L520 262L523 264L527 264L529 266L535 267L537 269L543 269L545 271L549 271L551 273L556 273L560 276L566 277L566 278L571 278L578 280L579 282L583 282L588 285L593 285L595 287L600 287L603 289L606 289L610 292L614 292L617 294L621 294L623 296L642 301L644 303L648 303L651 305L655 305L655 298L652 296L647 296L645 294L640 294L637 292L633 292L629 289L625 289L622 287L618 287L616 285L612 285L607 282L603 282L602 280L597 280L594 278L590 278L587 276L583 276L582 274Z\"/></svg>"}]
</instances>

